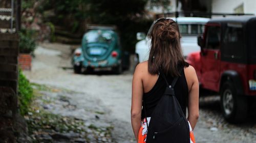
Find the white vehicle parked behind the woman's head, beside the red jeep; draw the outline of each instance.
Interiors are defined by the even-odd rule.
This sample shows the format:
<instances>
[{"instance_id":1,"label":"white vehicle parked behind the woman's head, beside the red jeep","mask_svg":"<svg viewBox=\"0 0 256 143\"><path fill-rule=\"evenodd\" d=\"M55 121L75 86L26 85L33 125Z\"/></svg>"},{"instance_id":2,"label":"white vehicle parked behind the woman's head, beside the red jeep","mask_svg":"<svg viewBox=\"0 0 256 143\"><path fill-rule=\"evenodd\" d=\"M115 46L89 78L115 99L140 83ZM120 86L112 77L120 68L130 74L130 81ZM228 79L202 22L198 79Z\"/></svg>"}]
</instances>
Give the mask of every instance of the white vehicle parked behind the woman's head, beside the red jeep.
<instances>
[{"instance_id":1,"label":"white vehicle parked behind the woman's head, beside the red jeep","mask_svg":"<svg viewBox=\"0 0 256 143\"><path fill-rule=\"evenodd\" d=\"M181 48L183 56L186 56L191 52L200 51L200 47L197 44L197 36L203 34L204 24L210 20L210 18L202 17L170 17L176 21L179 25L181 34ZM154 23L154 22L153 22ZM148 60L150 53L151 40L145 37L145 34L137 33L137 39L140 40L135 46L136 58L135 62L140 63Z\"/></svg>"}]
</instances>

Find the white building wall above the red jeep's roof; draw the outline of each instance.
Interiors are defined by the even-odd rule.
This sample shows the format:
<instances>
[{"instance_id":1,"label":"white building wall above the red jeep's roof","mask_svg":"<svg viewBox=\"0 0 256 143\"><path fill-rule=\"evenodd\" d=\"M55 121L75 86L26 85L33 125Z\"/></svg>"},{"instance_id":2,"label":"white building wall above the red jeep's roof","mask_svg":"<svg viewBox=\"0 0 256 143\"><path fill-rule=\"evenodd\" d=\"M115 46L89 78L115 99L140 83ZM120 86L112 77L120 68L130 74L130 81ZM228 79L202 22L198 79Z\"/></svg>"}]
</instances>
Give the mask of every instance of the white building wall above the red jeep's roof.
<instances>
[{"instance_id":1,"label":"white building wall above the red jeep's roof","mask_svg":"<svg viewBox=\"0 0 256 143\"><path fill-rule=\"evenodd\" d=\"M256 15L256 0L212 0L212 12L234 13L241 4L244 4L244 13Z\"/></svg>"}]
</instances>

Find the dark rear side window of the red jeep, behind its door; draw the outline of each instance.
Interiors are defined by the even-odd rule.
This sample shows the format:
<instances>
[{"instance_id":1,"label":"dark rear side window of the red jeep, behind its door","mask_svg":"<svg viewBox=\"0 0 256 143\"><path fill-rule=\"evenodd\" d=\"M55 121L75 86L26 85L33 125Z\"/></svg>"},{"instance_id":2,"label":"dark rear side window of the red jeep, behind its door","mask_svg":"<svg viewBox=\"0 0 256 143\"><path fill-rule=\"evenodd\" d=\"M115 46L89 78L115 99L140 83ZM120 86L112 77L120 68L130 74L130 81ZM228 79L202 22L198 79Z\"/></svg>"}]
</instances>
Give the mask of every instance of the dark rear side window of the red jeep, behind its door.
<instances>
[{"instance_id":1,"label":"dark rear side window of the red jeep, behind its door","mask_svg":"<svg viewBox=\"0 0 256 143\"><path fill-rule=\"evenodd\" d=\"M243 55L243 28L241 26L229 25L224 33L223 55L232 59L240 59Z\"/></svg>"}]
</instances>

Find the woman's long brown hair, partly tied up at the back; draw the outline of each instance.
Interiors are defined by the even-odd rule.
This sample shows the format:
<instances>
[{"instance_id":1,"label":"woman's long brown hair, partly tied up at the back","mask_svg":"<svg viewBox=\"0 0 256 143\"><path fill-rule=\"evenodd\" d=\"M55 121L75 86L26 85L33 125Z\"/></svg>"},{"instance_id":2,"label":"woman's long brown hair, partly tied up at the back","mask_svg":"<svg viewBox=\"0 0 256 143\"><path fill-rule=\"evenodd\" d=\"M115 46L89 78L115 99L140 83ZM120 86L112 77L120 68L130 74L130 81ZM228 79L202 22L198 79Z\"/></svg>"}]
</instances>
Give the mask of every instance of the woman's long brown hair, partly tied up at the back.
<instances>
[{"instance_id":1,"label":"woman's long brown hair, partly tied up at the back","mask_svg":"<svg viewBox=\"0 0 256 143\"><path fill-rule=\"evenodd\" d=\"M178 67L187 66L181 46L179 26L173 19L158 20L150 34L151 50L148 59L148 72L157 74L159 68L173 77L180 76Z\"/></svg>"}]
</instances>

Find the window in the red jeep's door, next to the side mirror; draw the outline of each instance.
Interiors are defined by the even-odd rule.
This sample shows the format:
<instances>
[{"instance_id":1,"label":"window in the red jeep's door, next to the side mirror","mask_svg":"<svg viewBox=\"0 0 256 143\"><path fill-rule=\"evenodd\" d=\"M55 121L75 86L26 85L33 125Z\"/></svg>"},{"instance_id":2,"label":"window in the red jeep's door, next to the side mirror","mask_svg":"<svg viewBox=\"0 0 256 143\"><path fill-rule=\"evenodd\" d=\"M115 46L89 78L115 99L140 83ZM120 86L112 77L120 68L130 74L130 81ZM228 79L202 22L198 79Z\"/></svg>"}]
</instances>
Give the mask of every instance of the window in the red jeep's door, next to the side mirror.
<instances>
[{"instance_id":1,"label":"window in the red jeep's door, next to the side mirror","mask_svg":"<svg viewBox=\"0 0 256 143\"><path fill-rule=\"evenodd\" d=\"M220 26L208 26L206 35L207 49L220 49L221 29Z\"/></svg>"}]
</instances>

